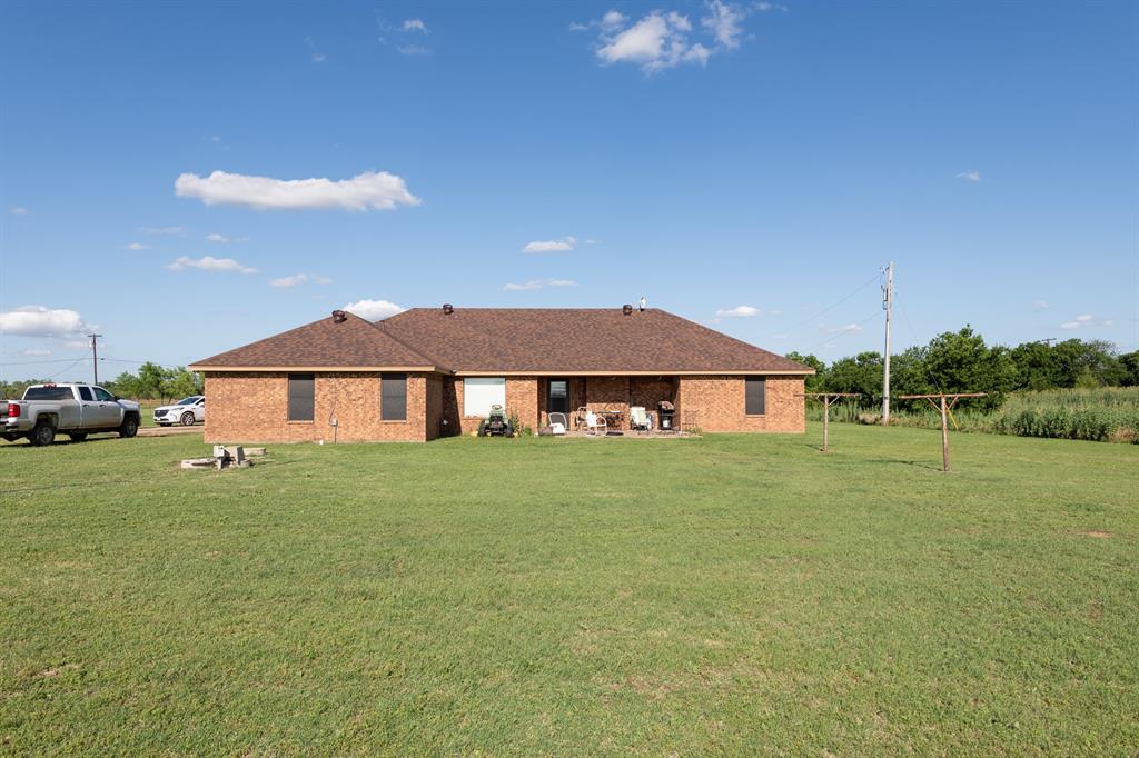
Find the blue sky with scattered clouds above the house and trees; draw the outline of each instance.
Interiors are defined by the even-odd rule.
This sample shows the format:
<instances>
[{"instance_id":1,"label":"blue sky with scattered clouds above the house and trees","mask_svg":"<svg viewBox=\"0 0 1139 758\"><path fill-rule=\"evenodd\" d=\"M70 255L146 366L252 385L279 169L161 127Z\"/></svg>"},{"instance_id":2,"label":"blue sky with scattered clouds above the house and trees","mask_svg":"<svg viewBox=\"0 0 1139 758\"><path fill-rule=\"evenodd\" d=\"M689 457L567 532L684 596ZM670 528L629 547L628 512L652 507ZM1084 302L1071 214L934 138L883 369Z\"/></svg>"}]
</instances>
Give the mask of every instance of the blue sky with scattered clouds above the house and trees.
<instances>
[{"instance_id":1,"label":"blue sky with scattered clouds above the house and trees","mask_svg":"<svg viewBox=\"0 0 1139 758\"><path fill-rule=\"evenodd\" d=\"M829 361L880 349L890 259L899 349L1136 349L1137 30L1131 2L5 3L0 376L88 378L89 328L112 376L367 300L641 295Z\"/></svg>"}]
</instances>

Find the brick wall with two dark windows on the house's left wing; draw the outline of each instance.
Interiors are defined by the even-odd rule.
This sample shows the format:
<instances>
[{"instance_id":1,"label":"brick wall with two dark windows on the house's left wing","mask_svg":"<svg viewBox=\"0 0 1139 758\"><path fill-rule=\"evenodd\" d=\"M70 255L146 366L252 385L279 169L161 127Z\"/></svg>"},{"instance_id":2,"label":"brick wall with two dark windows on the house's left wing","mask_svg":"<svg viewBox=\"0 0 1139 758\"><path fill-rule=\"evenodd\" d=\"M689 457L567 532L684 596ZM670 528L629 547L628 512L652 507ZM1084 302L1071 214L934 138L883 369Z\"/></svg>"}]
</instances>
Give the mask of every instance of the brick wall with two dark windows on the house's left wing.
<instances>
[{"instance_id":1,"label":"brick wall with two dark windows on the house's left wing","mask_svg":"<svg viewBox=\"0 0 1139 758\"><path fill-rule=\"evenodd\" d=\"M288 374L206 372L205 442L338 442L427 439L427 376L409 373L407 421L380 421L378 373L317 373L312 421L288 420ZM437 428L437 423L436 427Z\"/></svg>"}]
</instances>

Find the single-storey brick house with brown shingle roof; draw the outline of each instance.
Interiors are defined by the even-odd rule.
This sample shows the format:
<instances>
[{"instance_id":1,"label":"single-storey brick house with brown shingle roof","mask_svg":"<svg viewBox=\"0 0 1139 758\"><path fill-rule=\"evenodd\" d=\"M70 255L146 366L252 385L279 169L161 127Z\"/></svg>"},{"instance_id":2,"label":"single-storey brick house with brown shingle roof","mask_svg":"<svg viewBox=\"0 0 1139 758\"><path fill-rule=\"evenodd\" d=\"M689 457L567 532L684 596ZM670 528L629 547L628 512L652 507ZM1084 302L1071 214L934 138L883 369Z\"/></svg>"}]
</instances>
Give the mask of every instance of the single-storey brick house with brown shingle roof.
<instances>
[{"instance_id":1,"label":"single-storey brick house with brown shingle roof","mask_svg":"<svg viewBox=\"0 0 1139 758\"><path fill-rule=\"evenodd\" d=\"M554 411L661 401L704 431L804 430L800 363L658 308L412 308L351 313L215 355L206 442L425 442ZM335 420L335 427L333 421Z\"/></svg>"}]
</instances>

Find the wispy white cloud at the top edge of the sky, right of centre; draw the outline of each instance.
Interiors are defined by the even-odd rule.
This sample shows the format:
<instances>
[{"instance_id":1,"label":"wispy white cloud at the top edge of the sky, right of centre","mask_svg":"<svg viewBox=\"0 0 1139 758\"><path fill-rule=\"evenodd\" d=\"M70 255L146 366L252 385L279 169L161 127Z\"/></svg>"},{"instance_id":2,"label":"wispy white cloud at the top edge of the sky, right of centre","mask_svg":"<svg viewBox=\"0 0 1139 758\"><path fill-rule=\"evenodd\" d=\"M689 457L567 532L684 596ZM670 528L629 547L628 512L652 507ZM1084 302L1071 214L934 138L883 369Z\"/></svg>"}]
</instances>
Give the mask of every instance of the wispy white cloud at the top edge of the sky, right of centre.
<instances>
[{"instance_id":1,"label":"wispy white cloud at the top edge of the sky, right of centre","mask_svg":"<svg viewBox=\"0 0 1139 758\"><path fill-rule=\"evenodd\" d=\"M686 63L705 65L714 53L735 50L744 35L743 22L751 8L723 0L708 0L708 15L700 18L700 28L708 35L707 44L691 41L693 24L677 11L654 10L632 25L628 18L611 10L589 24L571 28L598 28L597 57L603 64L631 63L646 74Z\"/></svg>"}]
</instances>

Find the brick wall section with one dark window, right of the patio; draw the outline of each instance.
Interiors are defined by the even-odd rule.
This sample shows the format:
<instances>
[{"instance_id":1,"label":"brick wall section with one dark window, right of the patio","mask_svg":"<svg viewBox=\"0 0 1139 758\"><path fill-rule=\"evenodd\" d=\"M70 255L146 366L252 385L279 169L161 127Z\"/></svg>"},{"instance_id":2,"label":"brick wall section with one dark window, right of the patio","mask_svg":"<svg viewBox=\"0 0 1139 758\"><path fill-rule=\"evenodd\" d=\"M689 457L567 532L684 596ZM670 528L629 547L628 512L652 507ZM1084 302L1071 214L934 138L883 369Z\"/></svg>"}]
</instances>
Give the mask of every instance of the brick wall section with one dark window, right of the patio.
<instances>
[{"instance_id":1,"label":"brick wall section with one dark window, right of the patio","mask_svg":"<svg viewBox=\"0 0 1139 758\"><path fill-rule=\"evenodd\" d=\"M745 412L744 377L680 377L677 411L683 422L695 412L695 422L703 431L790 431L806 430L803 377L768 377L767 413Z\"/></svg>"}]
</instances>

